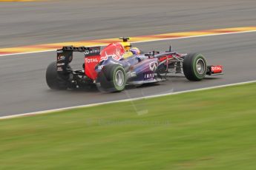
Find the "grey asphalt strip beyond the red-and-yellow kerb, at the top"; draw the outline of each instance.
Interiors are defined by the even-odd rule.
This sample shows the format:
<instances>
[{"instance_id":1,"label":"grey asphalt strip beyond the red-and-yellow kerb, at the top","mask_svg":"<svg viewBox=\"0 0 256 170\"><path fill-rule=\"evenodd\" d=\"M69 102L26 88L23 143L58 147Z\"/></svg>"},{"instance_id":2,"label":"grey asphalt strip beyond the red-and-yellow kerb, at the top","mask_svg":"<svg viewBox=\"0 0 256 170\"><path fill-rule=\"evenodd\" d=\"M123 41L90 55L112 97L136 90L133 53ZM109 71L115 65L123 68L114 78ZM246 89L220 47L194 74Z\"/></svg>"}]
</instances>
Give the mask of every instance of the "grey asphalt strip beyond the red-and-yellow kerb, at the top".
<instances>
[{"instance_id":1,"label":"grey asphalt strip beyond the red-and-yellow kerb, at the top","mask_svg":"<svg viewBox=\"0 0 256 170\"><path fill-rule=\"evenodd\" d=\"M0 47L256 25L255 0L0 3Z\"/></svg>"}]
</instances>

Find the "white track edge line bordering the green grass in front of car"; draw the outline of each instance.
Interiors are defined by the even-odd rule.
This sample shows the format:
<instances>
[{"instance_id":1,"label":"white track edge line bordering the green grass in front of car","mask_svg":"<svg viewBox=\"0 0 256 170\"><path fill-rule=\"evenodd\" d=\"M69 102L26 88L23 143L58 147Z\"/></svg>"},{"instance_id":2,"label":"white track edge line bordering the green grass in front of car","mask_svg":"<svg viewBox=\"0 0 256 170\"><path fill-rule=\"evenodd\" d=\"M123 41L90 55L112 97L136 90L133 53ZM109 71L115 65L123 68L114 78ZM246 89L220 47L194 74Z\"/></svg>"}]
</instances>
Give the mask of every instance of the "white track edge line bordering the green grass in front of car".
<instances>
[{"instance_id":1,"label":"white track edge line bordering the green grass in front of car","mask_svg":"<svg viewBox=\"0 0 256 170\"><path fill-rule=\"evenodd\" d=\"M140 97L140 98L129 98L129 99L124 99L124 100L119 100L119 101L108 101L108 102L102 102L102 103L93 103L93 104L86 104L86 105L80 105L80 106L64 107L64 108L60 108L60 109L49 109L49 110L43 110L43 111L39 111L39 112L24 113L24 114L20 114L20 115L8 115L8 116L0 117L0 120L10 119L10 118L19 118L19 117L24 117L24 116L42 115L42 114L53 113L53 112L68 111L70 109L80 109L80 108L86 108L86 107L92 107L92 106L101 106L103 104L109 104L109 103L137 101L137 100L140 100L140 99L157 98L157 97L163 97L163 96L166 96L166 95L178 95L178 94L183 94L183 93L187 93L187 92L197 92L197 91L202 91L202 90L207 90L207 89L219 89L221 87L226 87L226 86L236 86L236 85L251 84L251 83L256 83L256 81L245 81L245 82L240 82L240 83L235 83L235 84L225 84L225 85L220 85L220 86L209 86L209 87L205 87L205 88L201 88L201 89L190 89L190 90L185 90L185 91L180 91L180 92L169 92L169 93L162 94L162 95L149 95L149 96Z\"/></svg>"}]
</instances>

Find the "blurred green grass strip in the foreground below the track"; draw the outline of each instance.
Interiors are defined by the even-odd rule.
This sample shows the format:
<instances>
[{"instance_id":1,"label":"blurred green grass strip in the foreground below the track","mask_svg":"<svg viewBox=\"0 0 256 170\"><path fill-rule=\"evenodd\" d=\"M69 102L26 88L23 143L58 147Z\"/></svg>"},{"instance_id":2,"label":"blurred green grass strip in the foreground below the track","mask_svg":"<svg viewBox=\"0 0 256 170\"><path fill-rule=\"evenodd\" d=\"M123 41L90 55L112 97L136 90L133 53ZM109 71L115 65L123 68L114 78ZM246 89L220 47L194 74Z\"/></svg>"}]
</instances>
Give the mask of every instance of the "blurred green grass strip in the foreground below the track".
<instances>
[{"instance_id":1,"label":"blurred green grass strip in the foreground below the track","mask_svg":"<svg viewBox=\"0 0 256 170\"><path fill-rule=\"evenodd\" d=\"M256 169L256 84L0 120L0 169Z\"/></svg>"}]
</instances>

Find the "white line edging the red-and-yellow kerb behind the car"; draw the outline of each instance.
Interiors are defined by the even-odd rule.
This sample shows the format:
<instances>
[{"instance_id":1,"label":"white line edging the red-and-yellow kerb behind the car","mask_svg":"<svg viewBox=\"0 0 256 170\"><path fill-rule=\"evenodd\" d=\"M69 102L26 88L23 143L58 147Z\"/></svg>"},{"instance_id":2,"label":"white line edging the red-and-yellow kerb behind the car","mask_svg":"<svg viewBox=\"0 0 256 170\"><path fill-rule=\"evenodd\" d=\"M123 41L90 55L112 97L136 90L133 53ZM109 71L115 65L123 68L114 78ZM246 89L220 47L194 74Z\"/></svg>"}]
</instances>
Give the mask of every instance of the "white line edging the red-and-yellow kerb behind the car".
<instances>
[{"instance_id":1,"label":"white line edging the red-and-yellow kerb behind the car","mask_svg":"<svg viewBox=\"0 0 256 170\"><path fill-rule=\"evenodd\" d=\"M256 32L256 30L241 31L241 32L234 32L234 33L216 33L216 34L209 34L209 35L191 35L191 36L177 37L177 38L162 38L162 39L156 39L156 40L135 41L135 42L131 42L131 43L132 44L136 44L136 43L143 43L143 42L167 41L167 40L175 40L175 39L200 38L200 37L208 37L208 36L216 36L216 35L230 35L230 34L254 33L254 32ZM105 46L105 44L99 44L98 46L102 47L102 46ZM87 47L92 47L92 46L87 46ZM20 53L0 55L0 57L2 57L2 56L9 56L9 55L25 55L25 54L33 54L33 53L40 53L40 52L53 52L53 51L56 51L56 50L57 49L43 50L43 51L36 51L36 52L20 52Z\"/></svg>"}]
</instances>

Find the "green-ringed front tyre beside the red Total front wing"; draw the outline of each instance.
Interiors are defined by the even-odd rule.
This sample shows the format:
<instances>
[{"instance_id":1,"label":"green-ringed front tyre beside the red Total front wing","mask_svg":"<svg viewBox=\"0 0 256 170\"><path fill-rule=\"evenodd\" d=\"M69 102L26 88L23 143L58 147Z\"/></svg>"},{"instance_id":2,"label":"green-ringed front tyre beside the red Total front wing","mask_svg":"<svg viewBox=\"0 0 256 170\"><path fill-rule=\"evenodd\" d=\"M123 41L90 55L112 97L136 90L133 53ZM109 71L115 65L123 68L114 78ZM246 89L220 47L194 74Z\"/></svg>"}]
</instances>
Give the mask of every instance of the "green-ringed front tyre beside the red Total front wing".
<instances>
[{"instance_id":1,"label":"green-ringed front tyre beside the red Total front wing","mask_svg":"<svg viewBox=\"0 0 256 170\"><path fill-rule=\"evenodd\" d=\"M186 55L183 61L183 72L189 81L201 81L206 77L206 58L197 53Z\"/></svg>"}]
</instances>

